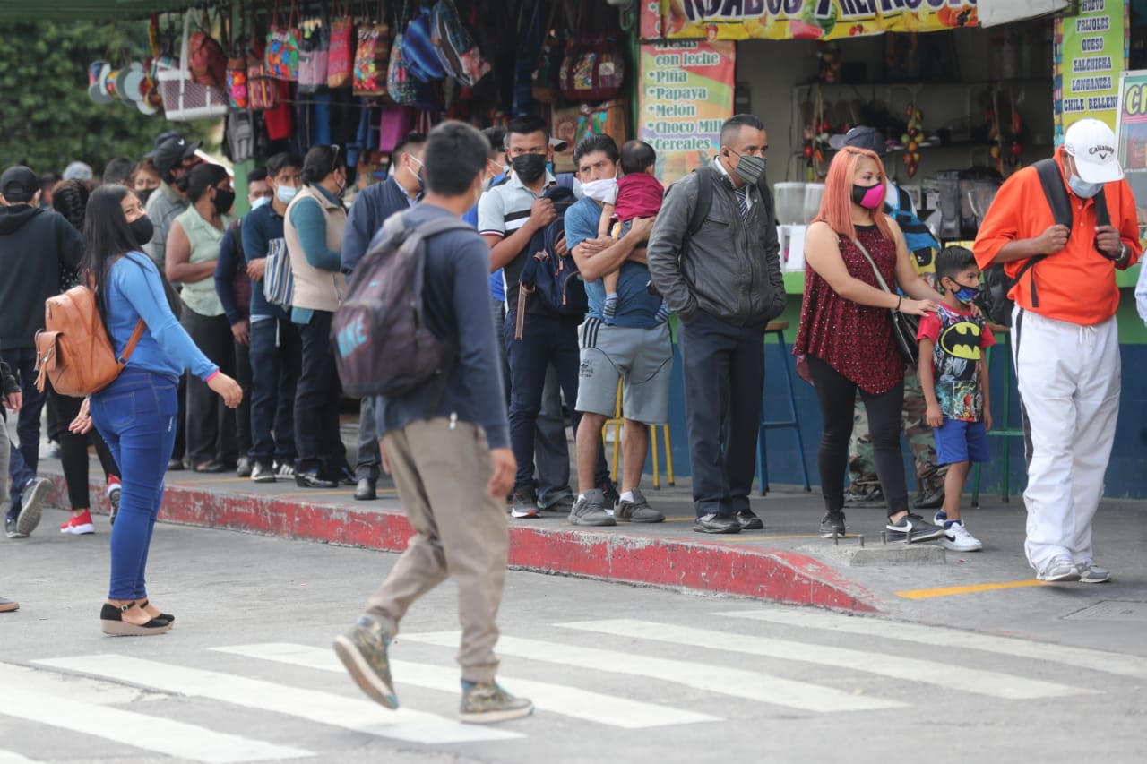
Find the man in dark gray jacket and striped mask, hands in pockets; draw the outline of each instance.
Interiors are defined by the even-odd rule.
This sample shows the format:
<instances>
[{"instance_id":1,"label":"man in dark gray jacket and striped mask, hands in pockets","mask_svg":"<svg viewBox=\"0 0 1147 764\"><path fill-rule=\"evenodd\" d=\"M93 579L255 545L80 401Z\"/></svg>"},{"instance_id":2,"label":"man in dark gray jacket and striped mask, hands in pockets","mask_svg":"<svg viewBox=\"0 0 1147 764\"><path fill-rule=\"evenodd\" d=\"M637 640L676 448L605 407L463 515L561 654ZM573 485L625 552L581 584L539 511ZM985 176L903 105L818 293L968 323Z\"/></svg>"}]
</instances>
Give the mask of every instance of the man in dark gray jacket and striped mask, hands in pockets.
<instances>
[{"instance_id":1,"label":"man in dark gray jacket and striped mask, hands in pockets","mask_svg":"<svg viewBox=\"0 0 1147 764\"><path fill-rule=\"evenodd\" d=\"M740 114L721 126L720 154L665 198L647 258L649 275L681 322L685 413L693 505L700 533L763 528L749 508L765 325L785 310L777 219L765 171L760 119ZM702 219L694 212L709 200ZM701 200L699 202L699 200Z\"/></svg>"}]
</instances>

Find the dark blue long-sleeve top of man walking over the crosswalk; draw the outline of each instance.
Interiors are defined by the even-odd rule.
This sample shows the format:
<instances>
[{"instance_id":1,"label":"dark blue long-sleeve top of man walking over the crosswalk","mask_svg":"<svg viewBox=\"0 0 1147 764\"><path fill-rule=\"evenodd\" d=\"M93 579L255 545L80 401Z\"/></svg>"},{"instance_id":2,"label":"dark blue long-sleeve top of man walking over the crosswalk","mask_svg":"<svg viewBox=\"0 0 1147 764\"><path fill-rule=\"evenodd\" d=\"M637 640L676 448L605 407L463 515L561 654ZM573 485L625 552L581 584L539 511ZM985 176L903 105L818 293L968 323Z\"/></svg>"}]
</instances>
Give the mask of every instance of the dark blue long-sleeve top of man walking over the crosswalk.
<instances>
[{"instance_id":1,"label":"dark blue long-sleeve top of man walking over the crosswalk","mask_svg":"<svg viewBox=\"0 0 1147 764\"><path fill-rule=\"evenodd\" d=\"M406 213L405 223L414 227L450 215L440 206L420 204ZM498 338L485 287L489 273L490 248L477 231L451 231L429 240L422 293L427 327L458 350L445 390L435 377L405 396L376 399L380 436L418 420L455 414L481 426L491 449L509 447ZM438 396L437 408L430 410Z\"/></svg>"}]
</instances>

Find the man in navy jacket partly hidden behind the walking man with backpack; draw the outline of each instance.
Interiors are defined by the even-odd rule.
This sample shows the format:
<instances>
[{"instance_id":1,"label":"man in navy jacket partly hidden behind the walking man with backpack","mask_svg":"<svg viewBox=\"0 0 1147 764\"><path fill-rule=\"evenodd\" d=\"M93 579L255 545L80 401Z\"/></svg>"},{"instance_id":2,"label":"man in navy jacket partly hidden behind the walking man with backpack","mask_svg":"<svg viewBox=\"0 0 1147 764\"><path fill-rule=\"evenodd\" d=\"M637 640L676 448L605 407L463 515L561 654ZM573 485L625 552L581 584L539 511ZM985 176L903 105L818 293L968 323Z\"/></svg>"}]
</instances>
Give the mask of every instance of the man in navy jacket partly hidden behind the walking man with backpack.
<instances>
[{"instance_id":1,"label":"man in navy jacket partly hidden behind the walking man with backpack","mask_svg":"<svg viewBox=\"0 0 1147 764\"><path fill-rule=\"evenodd\" d=\"M354 272L354 266L367 254L370 241L382 231L387 218L411 209L422 198L422 151L426 150L426 142L422 133L406 135L390 153L390 177L367 186L354 197L343 234L343 273L350 275ZM370 398L364 398L359 403L358 460L354 463L354 477L358 480L354 498L359 501L373 501L379 496L382 458L374 421L374 404Z\"/></svg>"}]
</instances>

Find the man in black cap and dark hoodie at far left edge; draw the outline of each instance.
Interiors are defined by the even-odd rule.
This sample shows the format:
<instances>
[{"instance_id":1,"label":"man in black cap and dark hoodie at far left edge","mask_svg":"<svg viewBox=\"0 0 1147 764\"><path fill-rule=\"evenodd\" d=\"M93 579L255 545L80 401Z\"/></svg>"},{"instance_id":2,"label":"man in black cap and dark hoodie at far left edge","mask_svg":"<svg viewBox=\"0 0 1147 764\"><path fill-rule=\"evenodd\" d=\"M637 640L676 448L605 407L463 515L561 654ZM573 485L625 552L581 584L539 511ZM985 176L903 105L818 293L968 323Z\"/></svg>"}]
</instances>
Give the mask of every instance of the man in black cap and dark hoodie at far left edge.
<instances>
[{"instance_id":1,"label":"man in black cap and dark hoodie at far left edge","mask_svg":"<svg viewBox=\"0 0 1147 764\"><path fill-rule=\"evenodd\" d=\"M40 522L48 481L36 476L40 413L47 396L36 389L36 333L44 328L44 301L60 294L61 266L79 268L84 241L57 212L40 209L40 180L16 165L0 174L0 359L18 377L23 407L16 424L19 449L9 449L11 506L8 538L24 538Z\"/></svg>"}]
</instances>

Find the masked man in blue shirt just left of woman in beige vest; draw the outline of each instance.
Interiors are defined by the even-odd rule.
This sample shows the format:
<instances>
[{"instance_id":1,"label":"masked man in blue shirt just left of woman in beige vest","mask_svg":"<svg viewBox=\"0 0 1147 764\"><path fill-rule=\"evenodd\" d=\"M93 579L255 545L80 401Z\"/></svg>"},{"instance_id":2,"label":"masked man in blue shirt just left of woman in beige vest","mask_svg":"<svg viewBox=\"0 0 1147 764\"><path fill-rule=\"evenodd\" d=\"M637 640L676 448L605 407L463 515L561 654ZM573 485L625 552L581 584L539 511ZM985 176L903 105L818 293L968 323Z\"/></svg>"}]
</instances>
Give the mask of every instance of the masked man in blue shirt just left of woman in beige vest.
<instances>
[{"instance_id":1,"label":"masked man in blue shirt just left of woman in beige vest","mask_svg":"<svg viewBox=\"0 0 1147 764\"><path fill-rule=\"evenodd\" d=\"M272 242L283 245L283 215L302 184L303 161L291 154L267 159L270 204L243 218L242 241L251 278L251 480L274 483L295 476L295 385L302 365L298 327L287 311L267 302L263 275Z\"/></svg>"}]
</instances>

